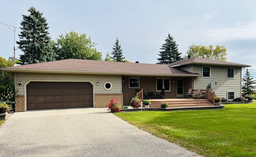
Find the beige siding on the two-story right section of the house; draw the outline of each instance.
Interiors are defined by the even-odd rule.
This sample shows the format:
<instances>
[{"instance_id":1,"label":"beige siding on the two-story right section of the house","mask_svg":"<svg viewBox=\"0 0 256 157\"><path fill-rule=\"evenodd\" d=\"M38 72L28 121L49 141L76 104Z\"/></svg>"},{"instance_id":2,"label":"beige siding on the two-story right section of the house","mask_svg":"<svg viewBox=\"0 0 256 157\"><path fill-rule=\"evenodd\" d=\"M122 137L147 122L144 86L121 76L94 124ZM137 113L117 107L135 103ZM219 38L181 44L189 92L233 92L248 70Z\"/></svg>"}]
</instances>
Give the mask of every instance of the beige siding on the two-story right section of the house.
<instances>
[{"instance_id":1,"label":"beige siding on the two-story right section of the house","mask_svg":"<svg viewBox=\"0 0 256 157\"><path fill-rule=\"evenodd\" d=\"M234 68L234 78L227 78L227 67L210 66L210 78L199 77L194 79L194 89L206 89L207 85L211 83L213 91L216 96L228 97L228 91L234 92L235 97L241 97L241 68ZM194 73L202 74L202 66L194 66ZM217 85L215 85L217 80Z\"/></svg>"}]
</instances>

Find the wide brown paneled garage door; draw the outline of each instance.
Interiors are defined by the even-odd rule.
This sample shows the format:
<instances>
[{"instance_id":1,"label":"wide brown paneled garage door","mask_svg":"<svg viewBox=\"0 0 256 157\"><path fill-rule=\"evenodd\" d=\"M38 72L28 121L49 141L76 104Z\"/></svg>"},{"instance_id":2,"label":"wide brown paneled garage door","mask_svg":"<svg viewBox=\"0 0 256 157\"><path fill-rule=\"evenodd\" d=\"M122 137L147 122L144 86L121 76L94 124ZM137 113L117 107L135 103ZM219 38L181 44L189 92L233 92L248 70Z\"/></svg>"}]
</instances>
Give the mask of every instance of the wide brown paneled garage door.
<instances>
[{"instance_id":1,"label":"wide brown paneled garage door","mask_svg":"<svg viewBox=\"0 0 256 157\"><path fill-rule=\"evenodd\" d=\"M30 82L27 85L27 110L92 106L92 84L88 82Z\"/></svg>"}]
</instances>

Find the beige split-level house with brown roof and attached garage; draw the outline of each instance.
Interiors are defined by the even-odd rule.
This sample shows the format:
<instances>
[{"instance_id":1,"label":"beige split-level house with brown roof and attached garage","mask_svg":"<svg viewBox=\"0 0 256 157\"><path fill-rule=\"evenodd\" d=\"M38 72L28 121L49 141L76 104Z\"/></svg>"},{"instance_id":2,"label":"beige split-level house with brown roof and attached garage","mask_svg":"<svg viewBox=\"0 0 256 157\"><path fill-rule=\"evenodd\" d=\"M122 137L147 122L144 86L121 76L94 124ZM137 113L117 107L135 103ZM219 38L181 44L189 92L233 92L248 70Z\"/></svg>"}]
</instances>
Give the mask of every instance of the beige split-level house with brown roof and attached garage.
<instances>
[{"instance_id":1,"label":"beige split-level house with brown roof and attached garage","mask_svg":"<svg viewBox=\"0 0 256 157\"><path fill-rule=\"evenodd\" d=\"M1 68L14 75L15 111L106 107L110 99L128 105L136 89L183 97L189 88L217 96L241 96L242 68L249 65L193 57L168 65L67 59ZM215 84L216 82L216 84Z\"/></svg>"}]
</instances>

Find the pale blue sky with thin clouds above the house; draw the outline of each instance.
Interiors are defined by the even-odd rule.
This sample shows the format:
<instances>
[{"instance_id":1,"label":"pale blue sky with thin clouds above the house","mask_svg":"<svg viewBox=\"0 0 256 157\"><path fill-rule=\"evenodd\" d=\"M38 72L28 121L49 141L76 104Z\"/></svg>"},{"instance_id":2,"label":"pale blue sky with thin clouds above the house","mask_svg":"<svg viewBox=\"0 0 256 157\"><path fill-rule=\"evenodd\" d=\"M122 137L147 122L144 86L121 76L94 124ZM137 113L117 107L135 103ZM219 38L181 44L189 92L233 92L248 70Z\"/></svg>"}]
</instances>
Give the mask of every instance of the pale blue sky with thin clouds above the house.
<instances>
[{"instance_id":1,"label":"pale blue sky with thin clouds above the house","mask_svg":"<svg viewBox=\"0 0 256 157\"><path fill-rule=\"evenodd\" d=\"M31 6L44 13L52 39L85 33L98 43L103 58L118 38L127 60L154 64L170 33L182 56L193 43L224 45L227 61L252 65L256 78L254 0L0 0L0 22L20 27ZM12 56L13 46L14 32L0 24L0 56ZM19 54L16 50L16 58Z\"/></svg>"}]
</instances>

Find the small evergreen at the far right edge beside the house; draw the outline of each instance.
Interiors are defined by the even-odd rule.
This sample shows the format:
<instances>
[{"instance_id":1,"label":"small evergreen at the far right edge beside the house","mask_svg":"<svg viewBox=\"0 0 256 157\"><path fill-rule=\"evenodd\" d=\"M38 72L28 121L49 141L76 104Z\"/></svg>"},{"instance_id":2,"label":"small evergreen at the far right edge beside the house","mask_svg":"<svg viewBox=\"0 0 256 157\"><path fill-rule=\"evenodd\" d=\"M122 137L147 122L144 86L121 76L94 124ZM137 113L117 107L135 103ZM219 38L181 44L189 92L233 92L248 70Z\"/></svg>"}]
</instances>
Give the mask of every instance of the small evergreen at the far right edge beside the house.
<instances>
[{"instance_id":1,"label":"small evergreen at the far right edge beside the house","mask_svg":"<svg viewBox=\"0 0 256 157\"><path fill-rule=\"evenodd\" d=\"M256 81L252 80L252 76L250 76L250 72L247 68L246 70L246 73L245 73L245 76L244 78L242 78L242 81L244 82L244 84L242 85L242 96L245 96L245 95L250 95L250 94L254 94L255 92L252 90L254 88L256 88L255 84Z\"/></svg>"}]
</instances>

